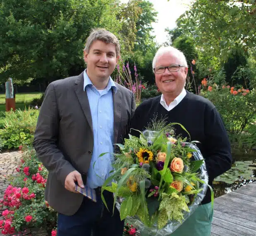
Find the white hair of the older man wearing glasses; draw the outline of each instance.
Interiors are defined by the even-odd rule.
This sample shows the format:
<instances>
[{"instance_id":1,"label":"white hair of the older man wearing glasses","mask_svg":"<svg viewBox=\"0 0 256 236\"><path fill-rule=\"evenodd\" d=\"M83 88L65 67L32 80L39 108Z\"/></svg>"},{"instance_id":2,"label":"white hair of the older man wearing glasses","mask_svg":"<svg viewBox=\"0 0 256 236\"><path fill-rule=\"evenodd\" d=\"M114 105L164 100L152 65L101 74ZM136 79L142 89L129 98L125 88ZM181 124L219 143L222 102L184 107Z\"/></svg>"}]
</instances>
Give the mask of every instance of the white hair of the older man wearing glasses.
<instances>
[{"instance_id":1,"label":"white hair of the older man wearing glasses","mask_svg":"<svg viewBox=\"0 0 256 236\"><path fill-rule=\"evenodd\" d=\"M153 62L152 62L153 70L154 70L155 65L157 63L158 57L162 56L163 54L168 53L168 52L173 54L175 57L177 57L179 59L179 61L181 62L182 66L188 67L188 63L187 63L186 57L184 56L183 52L181 52L180 50L176 49L175 47L168 46L168 47L160 47L157 50L157 52L155 54L155 57L153 59Z\"/></svg>"}]
</instances>

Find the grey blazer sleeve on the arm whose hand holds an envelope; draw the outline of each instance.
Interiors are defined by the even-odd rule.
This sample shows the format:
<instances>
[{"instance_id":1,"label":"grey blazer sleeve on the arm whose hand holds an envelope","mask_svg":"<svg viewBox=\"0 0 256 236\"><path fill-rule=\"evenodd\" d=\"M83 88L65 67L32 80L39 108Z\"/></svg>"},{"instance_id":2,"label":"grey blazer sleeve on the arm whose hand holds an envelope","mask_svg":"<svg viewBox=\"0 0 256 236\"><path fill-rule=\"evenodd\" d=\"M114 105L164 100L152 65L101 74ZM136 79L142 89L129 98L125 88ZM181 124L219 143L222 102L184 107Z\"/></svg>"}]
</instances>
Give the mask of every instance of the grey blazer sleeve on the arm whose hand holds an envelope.
<instances>
[{"instance_id":1,"label":"grey blazer sleeve on the arm whose hand holds an envelope","mask_svg":"<svg viewBox=\"0 0 256 236\"><path fill-rule=\"evenodd\" d=\"M55 174L57 179L65 185L67 175L75 168L65 160L58 148L59 121L56 93L51 83L46 89L40 108L33 146L46 169Z\"/></svg>"}]
</instances>

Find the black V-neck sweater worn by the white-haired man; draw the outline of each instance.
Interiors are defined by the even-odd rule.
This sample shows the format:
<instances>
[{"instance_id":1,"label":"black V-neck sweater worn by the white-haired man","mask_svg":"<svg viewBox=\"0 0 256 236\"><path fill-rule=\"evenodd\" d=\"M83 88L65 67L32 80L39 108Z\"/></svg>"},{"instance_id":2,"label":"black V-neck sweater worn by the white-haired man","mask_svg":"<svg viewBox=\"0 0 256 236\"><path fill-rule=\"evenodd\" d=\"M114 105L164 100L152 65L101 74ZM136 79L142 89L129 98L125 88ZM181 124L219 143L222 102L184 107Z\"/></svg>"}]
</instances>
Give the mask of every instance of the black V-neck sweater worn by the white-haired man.
<instances>
[{"instance_id":1,"label":"black V-neck sweater worn by the white-haired man","mask_svg":"<svg viewBox=\"0 0 256 236\"><path fill-rule=\"evenodd\" d=\"M142 102L135 111L131 128L145 130L155 117L165 117L168 123L177 122L183 125L191 135L191 141L200 142L196 145L205 159L209 185L212 185L213 179L229 170L232 165L227 132L217 109L208 99L188 91L186 97L171 111L164 109L160 99L161 96L158 96ZM179 125L174 128L176 135L188 138L188 134ZM132 131L132 135L139 136L139 133ZM209 202L208 188L202 204Z\"/></svg>"}]
</instances>

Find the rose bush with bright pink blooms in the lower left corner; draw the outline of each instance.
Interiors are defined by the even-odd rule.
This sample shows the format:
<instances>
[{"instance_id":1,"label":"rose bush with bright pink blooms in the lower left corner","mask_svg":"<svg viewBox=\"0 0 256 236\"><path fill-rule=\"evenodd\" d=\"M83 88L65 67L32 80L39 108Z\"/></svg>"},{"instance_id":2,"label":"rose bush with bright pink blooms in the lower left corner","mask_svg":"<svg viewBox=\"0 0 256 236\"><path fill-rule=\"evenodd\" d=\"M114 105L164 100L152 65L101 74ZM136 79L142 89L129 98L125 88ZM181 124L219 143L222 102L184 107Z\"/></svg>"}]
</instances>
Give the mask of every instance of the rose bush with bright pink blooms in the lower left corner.
<instances>
[{"instance_id":1,"label":"rose bush with bright pink blooms in the lower left corner","mask_svg":"<svg viewBox=\"0 0 256 236\"><path fill-rule=\"evenodd\" d=\"M47 170L34 150L23 154L17 175L10 178L0 207L4 219L0 221L2 234L13 234L27 228L56 227L57 214L44 200Z\"/></svg>"}]
</instances>

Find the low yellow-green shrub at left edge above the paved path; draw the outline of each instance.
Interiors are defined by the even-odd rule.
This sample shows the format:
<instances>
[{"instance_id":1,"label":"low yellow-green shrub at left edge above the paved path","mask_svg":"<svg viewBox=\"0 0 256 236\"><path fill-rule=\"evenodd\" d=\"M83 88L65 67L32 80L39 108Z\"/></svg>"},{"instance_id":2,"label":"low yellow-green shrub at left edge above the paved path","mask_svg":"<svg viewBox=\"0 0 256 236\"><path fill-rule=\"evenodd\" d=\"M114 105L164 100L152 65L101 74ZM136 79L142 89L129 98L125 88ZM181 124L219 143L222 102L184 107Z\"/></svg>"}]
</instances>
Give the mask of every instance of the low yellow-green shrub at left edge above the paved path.
<instances>
[{"instance_id":1,"label":"low yellow-green shrub at left edge above the paved path","mask_svg":"<svg viewBox=\"0 0 256 236\"><path fill-rule=\"evenodd\" d=\"M27 109L5 112L5 127L0 130L4 148L18 148L29 145L34 138L39 110Z\"/></svg>"}]
</instances>

